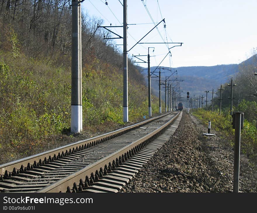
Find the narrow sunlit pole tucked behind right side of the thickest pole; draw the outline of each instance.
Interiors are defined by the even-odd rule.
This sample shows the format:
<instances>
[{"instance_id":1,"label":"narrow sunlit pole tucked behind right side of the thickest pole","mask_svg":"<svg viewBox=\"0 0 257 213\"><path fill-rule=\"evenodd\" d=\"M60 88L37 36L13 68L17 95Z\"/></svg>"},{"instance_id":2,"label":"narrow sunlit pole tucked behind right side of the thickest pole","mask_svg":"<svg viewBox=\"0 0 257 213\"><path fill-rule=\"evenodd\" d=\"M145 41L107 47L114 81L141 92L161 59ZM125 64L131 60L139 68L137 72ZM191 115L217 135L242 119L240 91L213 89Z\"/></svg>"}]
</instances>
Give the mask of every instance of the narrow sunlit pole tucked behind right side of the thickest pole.
<instances>
[{"instance_id":1,"label":"narrow sunlit pole tucked behind right side of the thickest pole","mask_svg":"<svg viewBox=\"0 0 257 213\"><path fill-rule=\"evenodd\" d=\"M81 38L81 3L79 3L79 104L80 104L80 130L83 130L82 119L82 38Z\"/></svg>"}]
</instances>

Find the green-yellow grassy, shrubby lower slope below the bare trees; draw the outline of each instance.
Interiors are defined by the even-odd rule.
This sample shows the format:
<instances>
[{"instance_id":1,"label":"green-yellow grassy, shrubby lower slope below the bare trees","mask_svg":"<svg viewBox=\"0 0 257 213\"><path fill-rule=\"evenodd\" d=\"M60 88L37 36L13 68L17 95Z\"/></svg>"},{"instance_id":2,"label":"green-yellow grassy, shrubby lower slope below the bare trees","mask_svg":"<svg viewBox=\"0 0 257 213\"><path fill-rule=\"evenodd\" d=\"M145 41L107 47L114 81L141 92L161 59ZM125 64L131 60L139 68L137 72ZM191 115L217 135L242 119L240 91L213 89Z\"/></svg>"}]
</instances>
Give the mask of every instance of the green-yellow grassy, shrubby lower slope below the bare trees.
<instances>
[{"instance_id":1,"label":"green-yellow grassy, shrubby lower slope below the bare trees","mask_svg":"<svg viewBox=\"0 0 257 213\"><path fill-rule=\"evenodd\" d=\"M121 71L94 60L84 64L82 78L83 132L79 139L124 125ZM70 79L69 67L0 52L0 164L78 140L69 134ZM147 88L130 80L129 121L147 116L147 106ZM156 98L152 110L158 113Z\"/></svg>"}]
</instances>

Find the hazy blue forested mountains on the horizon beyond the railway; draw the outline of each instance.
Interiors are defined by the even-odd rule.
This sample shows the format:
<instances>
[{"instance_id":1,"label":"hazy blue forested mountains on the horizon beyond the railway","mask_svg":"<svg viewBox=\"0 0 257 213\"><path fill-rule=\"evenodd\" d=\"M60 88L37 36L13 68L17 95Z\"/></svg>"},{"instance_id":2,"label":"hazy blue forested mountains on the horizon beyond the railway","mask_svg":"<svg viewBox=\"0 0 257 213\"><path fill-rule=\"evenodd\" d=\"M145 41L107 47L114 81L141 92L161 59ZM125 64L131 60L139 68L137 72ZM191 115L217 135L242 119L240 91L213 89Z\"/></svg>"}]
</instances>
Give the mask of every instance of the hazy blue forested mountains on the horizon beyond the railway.
<instances>
[{"instance_id":1,"label":"hazy blue forested mountains on the horizon beyond the railway","mask_svg":"<svg viewBox=\"0 0 257 213\"><path fill-rule=\"evenodd\" d=\"M257 57L254 55L249 59L241 62L240 64L250 64L253 63L253 58ZM206 93L204 91L212 91L214 88L214 92L218 90L220 84L228 83L232 77L235 77L239 72L240 64L222 64L216 66L193 66L193 67L177 67L177 68L168 68L168 69L159 69L159 67L151 67L151 72L154 70L154 74L159 76L159 71L161 71L161 80L165 80L165 76L170 76L174 71L176 72L170 77L170 79L177 78L178 80L183 80L183 82L179 83L180 91L180 101L186 101L186 93L190 92L190 97L195 95L195 97L204 96ZM156 69L157 68L157 69ZM144 69L144 70L143 70ZM147 81L147 69L142 68L142 74L145 78L146 85L148 85ZM155 75L152 75L152 77ZM151 78L151 88L152 94L159 96L159 78ZM175 83L175 81L174 81ZM208 95L209 96L209 95ZM211 97L211 96L209 96ZM162 86L162 99L164 99L164 88Z\"/></svg>"}]
</instances>

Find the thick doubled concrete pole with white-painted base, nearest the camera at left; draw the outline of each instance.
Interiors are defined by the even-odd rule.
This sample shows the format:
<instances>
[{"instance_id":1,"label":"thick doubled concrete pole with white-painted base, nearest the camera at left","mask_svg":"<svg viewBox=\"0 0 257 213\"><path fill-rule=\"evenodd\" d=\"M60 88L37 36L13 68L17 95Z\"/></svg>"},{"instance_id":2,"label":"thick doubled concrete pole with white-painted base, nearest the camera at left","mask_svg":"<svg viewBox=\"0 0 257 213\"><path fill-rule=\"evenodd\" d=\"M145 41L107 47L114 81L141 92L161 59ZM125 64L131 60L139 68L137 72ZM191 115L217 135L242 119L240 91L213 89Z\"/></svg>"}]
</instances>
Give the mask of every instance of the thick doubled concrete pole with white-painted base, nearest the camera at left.
<instances>
[{"instance_id":1,"label":"thick doubled concrete pole with white-painted base, nearest the camera at left","mask_svg":"<svg viewBox=\"0 0 257 213\"><path fill-rule=\"evenodd\" d=\"M80 132L79 7L72 0L71 132Z\"/></svg>"}]
</instances>

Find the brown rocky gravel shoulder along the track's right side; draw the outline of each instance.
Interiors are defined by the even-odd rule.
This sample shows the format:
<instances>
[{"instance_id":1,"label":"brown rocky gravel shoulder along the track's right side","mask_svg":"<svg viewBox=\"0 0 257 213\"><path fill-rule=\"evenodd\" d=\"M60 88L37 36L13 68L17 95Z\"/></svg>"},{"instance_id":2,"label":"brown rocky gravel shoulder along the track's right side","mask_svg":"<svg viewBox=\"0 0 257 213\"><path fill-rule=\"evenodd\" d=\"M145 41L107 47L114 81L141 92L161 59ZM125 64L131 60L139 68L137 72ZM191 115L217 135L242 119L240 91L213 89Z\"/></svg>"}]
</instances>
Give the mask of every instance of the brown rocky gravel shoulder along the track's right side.
<instances>
[{"instance_id":1,"label":"brown rocky gravel shoulder along the track's right side","mask_svg":"<svg viewBox=\"0 0 257 213\"><path fill-rule=\"evenodd\" d=\"M217 132L183 112L171 139L122 192L232 192L233 149ZM256 171L241 156L239 191L256 192Z\"/></svg>"}]
</instances>

